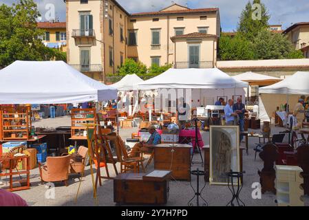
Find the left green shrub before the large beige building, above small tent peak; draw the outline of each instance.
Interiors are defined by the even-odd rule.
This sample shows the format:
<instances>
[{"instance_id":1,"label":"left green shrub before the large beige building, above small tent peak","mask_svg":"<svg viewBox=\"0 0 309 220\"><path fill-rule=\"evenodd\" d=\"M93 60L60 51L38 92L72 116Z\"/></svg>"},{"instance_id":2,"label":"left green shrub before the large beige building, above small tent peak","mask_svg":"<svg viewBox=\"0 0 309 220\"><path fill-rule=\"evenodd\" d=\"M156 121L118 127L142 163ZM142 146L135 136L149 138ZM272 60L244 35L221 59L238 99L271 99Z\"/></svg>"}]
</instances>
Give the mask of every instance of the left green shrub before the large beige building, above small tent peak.
<instances>
[{"instance_id":1,"label":"left green shrub before the large beige building, above small tent peak","mask_svg":"<svg viewBox=\"0 0 309 220\"><path fill-rule=\"evenodd\" d=\"M118 69L118 74L120 76L125 76L127 74L136 74L140 76L142 74L147 74L147 67L140 61L136 63L134 59L128 58Z\"/></svg>"}]
</instances>

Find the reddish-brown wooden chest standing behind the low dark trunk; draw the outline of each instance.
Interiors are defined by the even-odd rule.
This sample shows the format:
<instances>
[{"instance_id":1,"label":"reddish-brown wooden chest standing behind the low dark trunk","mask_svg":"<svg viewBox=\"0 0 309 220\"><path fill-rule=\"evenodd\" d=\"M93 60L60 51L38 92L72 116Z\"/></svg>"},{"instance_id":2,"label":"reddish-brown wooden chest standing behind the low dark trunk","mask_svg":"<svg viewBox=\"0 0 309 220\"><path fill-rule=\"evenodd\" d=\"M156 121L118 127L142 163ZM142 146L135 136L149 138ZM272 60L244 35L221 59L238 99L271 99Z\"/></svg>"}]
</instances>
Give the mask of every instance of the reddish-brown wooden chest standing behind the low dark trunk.
<instances>
[{"instance_id":1,"label":"reddish-brown wooden chest standing behind the low dark trunk","mask_svg":"<svg viewBox=\"0 0 309 220\"><path fill-rule=\"evenodd\" d=\"M172 179L191 181L191 145L158 144L153 148L154 168L156 170L171 170Z\"/></svg>"}]
</instances>

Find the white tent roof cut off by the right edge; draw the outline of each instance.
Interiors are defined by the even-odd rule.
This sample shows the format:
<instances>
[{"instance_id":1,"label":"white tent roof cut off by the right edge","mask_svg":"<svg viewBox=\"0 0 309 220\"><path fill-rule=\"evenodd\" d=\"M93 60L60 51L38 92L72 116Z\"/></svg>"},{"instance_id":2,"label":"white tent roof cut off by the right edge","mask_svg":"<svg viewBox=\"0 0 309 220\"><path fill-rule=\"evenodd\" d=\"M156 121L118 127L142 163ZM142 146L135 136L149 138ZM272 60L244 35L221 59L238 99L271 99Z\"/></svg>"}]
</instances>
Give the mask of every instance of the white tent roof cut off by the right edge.
<instances>
[{"instance_id":1,"label":"white tent roof cut off by the right edge","mask_svg":"<svg viewBox=\"0 0 309 220\"><path fill-rule=\"evenodd\" d=\"M309 72L296 72L279 83L259 89L260 94L309 94Z\"/></svg>"}]
</instances>

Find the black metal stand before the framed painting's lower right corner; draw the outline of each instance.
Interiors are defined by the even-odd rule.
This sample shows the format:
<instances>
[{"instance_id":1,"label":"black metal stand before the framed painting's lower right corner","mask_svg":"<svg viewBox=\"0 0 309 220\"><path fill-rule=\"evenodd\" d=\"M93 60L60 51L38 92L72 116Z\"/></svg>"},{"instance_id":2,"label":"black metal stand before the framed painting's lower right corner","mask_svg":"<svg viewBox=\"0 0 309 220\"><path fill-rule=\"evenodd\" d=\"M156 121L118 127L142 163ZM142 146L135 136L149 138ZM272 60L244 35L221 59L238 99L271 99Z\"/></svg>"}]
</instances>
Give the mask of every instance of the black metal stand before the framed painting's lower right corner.
<instances>
[{"instance_id":1,"label":"black metal stand before the framed painting's lower right corner","mask_svg":"<svg viewBox=\"0 0 309 220\"><path fill-rule=\"evenodd\" d=\"M233 201L236 200L238 206L245 206L244 202L239 199L239 193L242 190L242 183L240 183L243 173L239 173L239 172L229 172L226 173L227 177L228 177L228 189L232 192L233 198L231 199L231 201L229 201L226 206L228 206L229 204L231 204L231 206L235 206ZM233 179L237 178L237 185L235 186L235 183L233 182ZM235 190L235 188L237 188L237 190ZM239 203L240 202L240 203Z\"/></svg>"}]
</instances>

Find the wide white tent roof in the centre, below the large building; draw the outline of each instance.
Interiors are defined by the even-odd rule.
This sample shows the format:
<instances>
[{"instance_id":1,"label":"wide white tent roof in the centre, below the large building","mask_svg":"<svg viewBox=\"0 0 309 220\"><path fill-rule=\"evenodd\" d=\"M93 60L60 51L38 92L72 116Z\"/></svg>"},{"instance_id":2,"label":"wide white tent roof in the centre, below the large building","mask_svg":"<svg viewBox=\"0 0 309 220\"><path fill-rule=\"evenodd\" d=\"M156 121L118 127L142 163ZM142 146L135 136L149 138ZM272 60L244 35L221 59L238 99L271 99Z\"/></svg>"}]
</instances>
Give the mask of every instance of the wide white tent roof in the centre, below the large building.
<instances>
[{"instance_id":1,"label":"wide white tent roof in the centre, below the large building","mask_svg":"<svg viewBox=\"0 0 309 220\"><path fill-rule=\"evenodd\" d=\"M220 69L169 69L138 84L138 89L228 89L247 87L248 83L235 80Z\"/></svg>"}]
</instances>

